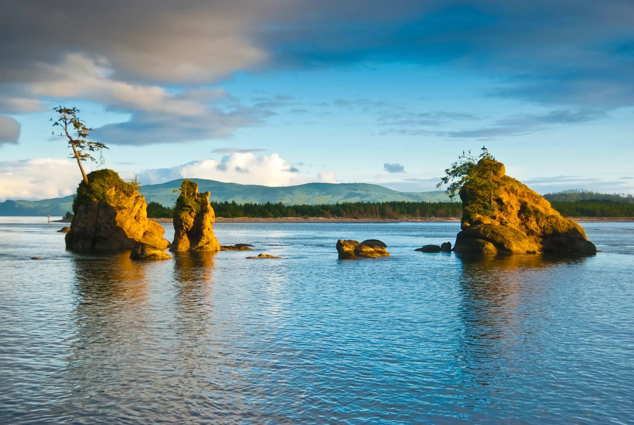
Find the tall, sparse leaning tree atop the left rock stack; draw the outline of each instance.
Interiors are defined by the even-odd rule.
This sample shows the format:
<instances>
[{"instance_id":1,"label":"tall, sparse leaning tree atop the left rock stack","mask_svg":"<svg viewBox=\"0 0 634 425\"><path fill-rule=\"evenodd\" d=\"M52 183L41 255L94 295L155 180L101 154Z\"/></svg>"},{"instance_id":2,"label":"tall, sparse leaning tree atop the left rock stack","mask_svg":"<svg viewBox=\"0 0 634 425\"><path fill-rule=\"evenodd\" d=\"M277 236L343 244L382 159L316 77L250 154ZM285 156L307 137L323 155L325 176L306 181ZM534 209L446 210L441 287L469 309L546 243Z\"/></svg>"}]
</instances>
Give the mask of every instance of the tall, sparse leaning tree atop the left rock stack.
<instances>
[{"instance_id":1,"label":"tall, sparse leaning tree atop the left rock stack","mask_svg":"<svg viewBox=\"0 0 634 425\"><path fill-rule=\"evenodd\" d=\"M98 141L88 140L88 135L91 131L93 131L93 129L87 127L83 121L77 118L79 109L75 107L64 108L60 106L53 108L53 110L60 114L57 121L53 122L53 127L59 126L63 129L63 133L60 133L59 135L66 136L68 138L68 146L73 150L73 153L69 155L69 158L77 159L77 165L79 165L79 170L84 178L84 183L88 184L86 171L84 171L84 167L81 164L82 161L89 159L93 162L98 162L100 165L103 164L101 150L107 149L108 147ZM53 121L52 118L51 121ZM73 136L71 132L74 132L77 135ZM53 131L53 134L55 134L55 131ZM99 160L96 160L90 152L99 152Z\"/></svg>"}]
</instances>

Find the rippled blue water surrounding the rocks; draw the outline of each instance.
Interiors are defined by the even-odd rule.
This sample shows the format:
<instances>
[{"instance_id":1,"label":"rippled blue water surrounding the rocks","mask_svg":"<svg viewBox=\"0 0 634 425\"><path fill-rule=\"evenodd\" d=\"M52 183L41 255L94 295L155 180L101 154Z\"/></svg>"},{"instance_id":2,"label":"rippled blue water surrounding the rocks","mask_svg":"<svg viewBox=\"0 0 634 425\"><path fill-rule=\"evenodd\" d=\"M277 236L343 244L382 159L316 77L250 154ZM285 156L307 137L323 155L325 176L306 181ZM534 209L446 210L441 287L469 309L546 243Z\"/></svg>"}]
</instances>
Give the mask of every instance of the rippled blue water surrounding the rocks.
<instances>
[{"instance_id":1,"label":"rippled blue water surrounding the rocks","mask_svg":"<svg viewBox=\"0 0 634 425\"><path fill-rule=\"evenodd\" d=\"M584 224L594 257L488 261L413 251L457 223L217 224L286 259L155 263L61 226L0 218L2 423L634 422L634 223Z\"/></svg>"}]
</instances>

